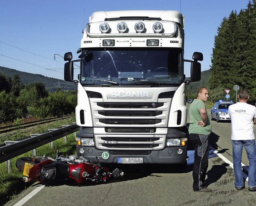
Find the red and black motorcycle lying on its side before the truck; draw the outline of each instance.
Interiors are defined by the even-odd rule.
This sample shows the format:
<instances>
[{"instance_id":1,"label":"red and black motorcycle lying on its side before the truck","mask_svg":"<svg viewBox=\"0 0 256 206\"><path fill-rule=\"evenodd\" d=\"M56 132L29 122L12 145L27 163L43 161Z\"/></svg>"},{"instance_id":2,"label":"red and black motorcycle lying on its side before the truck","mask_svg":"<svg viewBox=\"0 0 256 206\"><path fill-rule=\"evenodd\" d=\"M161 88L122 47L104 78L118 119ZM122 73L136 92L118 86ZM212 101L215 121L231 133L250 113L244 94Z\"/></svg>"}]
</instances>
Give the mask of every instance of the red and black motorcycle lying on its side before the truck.
<instances>
[{"instance_id":1,"label":"red and black motorcycle lying on its side before the truck","mask_svg":"<svg viewBox=\"0 0 256 206\"><path fill-rule=\"evenodd\" d=\"M29 182L35 180L39 182L47 182L50 180L68 178L78 184L88 180L93 182L106 182L108 179L117 179L123 176L118 168L110 173L107 167L102 167L100 162L92 163L83 156L76 157L74 155L67 157L57 156L55 159L51 157L20 157L16 161L16 167L23 172L22 180Z\"/></svg>"}]
</instances>

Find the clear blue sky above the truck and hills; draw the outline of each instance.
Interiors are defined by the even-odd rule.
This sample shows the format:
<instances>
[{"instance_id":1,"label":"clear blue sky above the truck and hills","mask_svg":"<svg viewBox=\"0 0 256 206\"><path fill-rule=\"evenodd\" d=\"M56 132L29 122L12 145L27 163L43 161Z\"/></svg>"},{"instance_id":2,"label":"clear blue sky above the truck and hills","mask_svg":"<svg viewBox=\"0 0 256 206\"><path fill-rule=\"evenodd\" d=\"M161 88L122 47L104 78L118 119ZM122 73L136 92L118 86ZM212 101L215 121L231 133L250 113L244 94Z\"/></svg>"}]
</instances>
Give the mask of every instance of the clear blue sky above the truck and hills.
<instances>
[{"instance_id":1,"label":"clear blue sky above the truck and hills","mask_svg":"<svg viewBox=\"0 0 256 206\"><path fill-rule=\"evenodd\" d=\"M80 47L82 31L97 11L176 10L185 16L184 58L202 52L210 69L217 29L249 0L0 0L0 66L64 79L64 54ZM55 58L54 58L55 57ZM75 66L74 79L79 73ZM185 74L190 77L189 66Z\"/></svg>"}]
</instances>

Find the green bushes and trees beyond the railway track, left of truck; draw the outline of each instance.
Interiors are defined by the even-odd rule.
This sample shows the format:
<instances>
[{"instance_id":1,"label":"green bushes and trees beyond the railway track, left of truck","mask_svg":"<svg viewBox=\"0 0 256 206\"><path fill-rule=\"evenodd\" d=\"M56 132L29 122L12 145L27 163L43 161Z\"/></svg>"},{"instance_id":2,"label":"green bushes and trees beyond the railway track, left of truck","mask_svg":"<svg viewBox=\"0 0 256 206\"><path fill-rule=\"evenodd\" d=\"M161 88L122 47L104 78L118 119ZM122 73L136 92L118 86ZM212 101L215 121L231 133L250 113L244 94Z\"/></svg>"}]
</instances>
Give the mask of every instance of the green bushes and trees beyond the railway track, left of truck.
<instances>
[{"instance_id":1,"label":"green bushes and trees beyond the railway track, left of truck","mask_svg":"<svg viewBox=\"0 0 256 206\"><path fill-rule=\"evenodd\" d=\"M19 75L11 78L0 72L0 124L72 114L76 104L74 90L48 92L42 82L24 85Z\"/></svg>"}]
</instances>

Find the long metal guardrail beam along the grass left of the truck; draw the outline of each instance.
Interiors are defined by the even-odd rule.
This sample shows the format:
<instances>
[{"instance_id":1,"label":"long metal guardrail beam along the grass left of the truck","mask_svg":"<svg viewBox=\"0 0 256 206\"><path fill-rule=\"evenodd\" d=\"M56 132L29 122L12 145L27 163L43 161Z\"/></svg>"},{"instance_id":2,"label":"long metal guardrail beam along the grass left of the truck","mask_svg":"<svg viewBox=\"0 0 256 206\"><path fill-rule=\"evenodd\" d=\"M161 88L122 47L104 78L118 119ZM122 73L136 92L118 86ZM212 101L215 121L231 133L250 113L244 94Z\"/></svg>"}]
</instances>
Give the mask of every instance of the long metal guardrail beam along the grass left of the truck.
<instances>
[{"instance_id":1,"label":"long metal guardrail beam along the grass left of the truck","mask_svg":"<svg viewBox=\"0 0 256 206\"><path fill-rule=\"evenodd\" d=\"M33 134L30 135L30 137L24 137L14 141L5 141L5 143L0 145L0 163L74 133L78 131L78 129L79 126L72 124L62 126L62 128L49 129L49 131L45 133Z\"/></svg>"}]
</instances>

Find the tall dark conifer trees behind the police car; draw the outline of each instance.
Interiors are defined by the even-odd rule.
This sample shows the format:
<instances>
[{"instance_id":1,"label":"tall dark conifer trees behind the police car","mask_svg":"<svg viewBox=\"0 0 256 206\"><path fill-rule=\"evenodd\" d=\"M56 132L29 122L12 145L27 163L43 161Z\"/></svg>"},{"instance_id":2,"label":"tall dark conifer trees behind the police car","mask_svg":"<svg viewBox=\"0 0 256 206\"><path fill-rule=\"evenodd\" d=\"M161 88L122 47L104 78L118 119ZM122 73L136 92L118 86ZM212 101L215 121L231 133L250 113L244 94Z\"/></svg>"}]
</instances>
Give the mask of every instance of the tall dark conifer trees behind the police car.
<instances>
[{"instance_id":1,"label":"tall dark conifer trees behind the police car","mask_svg":"<svg viewBox=\"0 0 256 206\"><path fill-rule=\"evenodd\" d=\"M246 9L233 11L223 18L218 27L212 49L209 93L215 100L230 89L230 100L236 100L234 85L250 93L250 102L256 101L256 0L249 0ZM222 91L218 92L217 91ZM238 91L239 92L239 91Z\"/></svg>"}]
</instances>

